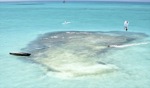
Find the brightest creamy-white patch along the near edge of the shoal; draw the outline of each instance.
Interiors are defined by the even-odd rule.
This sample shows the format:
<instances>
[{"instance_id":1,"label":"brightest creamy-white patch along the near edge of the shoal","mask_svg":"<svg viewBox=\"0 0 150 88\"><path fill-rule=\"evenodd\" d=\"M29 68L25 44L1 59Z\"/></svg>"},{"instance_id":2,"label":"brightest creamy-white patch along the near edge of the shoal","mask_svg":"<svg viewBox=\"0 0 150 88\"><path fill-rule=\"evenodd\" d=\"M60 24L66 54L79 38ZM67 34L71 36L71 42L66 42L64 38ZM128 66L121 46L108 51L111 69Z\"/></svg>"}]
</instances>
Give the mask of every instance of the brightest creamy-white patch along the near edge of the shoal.
<instances>
[{"instance_id":1,"label":"brightest creamy-white patch along the near edge of the shoal","mask_svg":"<svg viewBox=\"0 0 150 88\"><path fill-rule=\"evenodd\" d=\"M75 65L75 66L74 66ZM81 64L65 64L60 67L60 72L53 72L55 76L59 78L67 78L67 77L81 77L81 76L91 76L91 75L101 75L105 73L111 73L119 70L119 68L112 64L102 65L81 65ZM51 76L51 72L47 72L47 75Z\"/></svg>"}]
</instances>

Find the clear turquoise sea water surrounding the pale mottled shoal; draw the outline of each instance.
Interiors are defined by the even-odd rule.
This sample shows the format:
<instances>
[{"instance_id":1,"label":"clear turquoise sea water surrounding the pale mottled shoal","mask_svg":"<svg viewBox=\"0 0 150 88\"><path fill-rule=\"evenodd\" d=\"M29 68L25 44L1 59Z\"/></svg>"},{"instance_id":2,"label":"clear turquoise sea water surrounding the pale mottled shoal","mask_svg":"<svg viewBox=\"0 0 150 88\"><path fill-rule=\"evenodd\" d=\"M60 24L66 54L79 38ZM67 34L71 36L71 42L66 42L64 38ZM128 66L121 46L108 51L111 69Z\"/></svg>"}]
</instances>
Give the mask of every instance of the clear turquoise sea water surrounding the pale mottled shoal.
<instances>
[{"instance_id":1,"label":"clear turquoise sea water surrounding the pale mottled shoal","mask_svg":"<svg viewBox=\"0 0 150 88\"><path fill-rule=\"evenodd\" d=\"M149 14L150 3L138 2L1 2L0 88L149 88L149 37L108 52L104 60L119 71L97 76L57 77L9 55L47 32L125 31L125 20L129 32L150 35Z\"/></svg>"}]
</instances>

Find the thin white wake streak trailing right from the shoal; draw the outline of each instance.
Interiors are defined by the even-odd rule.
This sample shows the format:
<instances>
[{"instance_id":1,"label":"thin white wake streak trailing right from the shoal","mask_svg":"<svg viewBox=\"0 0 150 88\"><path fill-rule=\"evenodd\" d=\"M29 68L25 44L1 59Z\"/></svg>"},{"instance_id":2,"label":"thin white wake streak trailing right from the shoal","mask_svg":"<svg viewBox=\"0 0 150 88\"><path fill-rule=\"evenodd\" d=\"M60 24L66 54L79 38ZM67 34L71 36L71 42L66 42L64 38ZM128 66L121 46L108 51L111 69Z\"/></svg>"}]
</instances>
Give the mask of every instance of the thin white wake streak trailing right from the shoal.
<instances>
[{"instance_id":1,"label":"thin white wake streak trailing right from the shoal","mask_svg":"<svg viewBox=\"0 0 150 88\"><path fill-rule=\"evenodd\" d=\"M126 45L110 45L109 47L125 48L125 47L130 47L130 46L145 45L145 44L149 44L149 43L150 43L150 42L133 43L133 44L126 44Z\"/></svg>"}]
</instances>

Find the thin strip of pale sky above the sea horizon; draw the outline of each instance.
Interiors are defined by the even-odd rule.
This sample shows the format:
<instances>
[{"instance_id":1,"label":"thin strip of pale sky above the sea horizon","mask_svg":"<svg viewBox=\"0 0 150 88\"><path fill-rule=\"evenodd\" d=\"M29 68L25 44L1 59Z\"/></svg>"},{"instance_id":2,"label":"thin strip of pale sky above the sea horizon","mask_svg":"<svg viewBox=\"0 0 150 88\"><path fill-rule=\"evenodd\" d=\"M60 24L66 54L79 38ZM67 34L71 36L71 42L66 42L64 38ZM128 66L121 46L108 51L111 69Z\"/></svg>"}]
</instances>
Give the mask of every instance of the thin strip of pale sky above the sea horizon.
<instances>
[{"instance_id":1,"label":"thin strip of pale sky above the sea horizon","mask_svg":"<svg viewBox=\"0 0 150 88\"><path fill-rule=\"evenodd\" d=\"M63 0L0 0L4 1L63 1ZM66 1L128 1L128 2L150 2L150 0L66 0Z\"/></svg>"}]
</instances>

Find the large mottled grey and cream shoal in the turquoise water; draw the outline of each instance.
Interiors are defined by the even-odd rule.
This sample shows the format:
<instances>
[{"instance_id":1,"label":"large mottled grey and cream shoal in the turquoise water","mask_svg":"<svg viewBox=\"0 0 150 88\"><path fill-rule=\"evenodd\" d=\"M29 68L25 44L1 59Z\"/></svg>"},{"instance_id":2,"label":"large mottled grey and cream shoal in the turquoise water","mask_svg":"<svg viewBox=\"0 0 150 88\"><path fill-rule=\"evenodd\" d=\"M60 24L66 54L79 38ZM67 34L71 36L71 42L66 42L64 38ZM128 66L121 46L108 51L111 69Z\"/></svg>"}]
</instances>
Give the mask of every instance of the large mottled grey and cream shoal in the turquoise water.
<instances>
[{"instance_id":1,"label":"large mottled grey and cream shoal in the turquoise water","mask_svg":"<svg viewBox=\"0 0 150 88\"><path fill-rule=\"evenodd\" d=\"M111 49L108 45L124 45L145 37L132 32L53 32L38 37L26 50L32 53L31 60L55 74L101 75L118 69L115 64L101 62L103 53Z\"/></svg>"}]
</instances>

